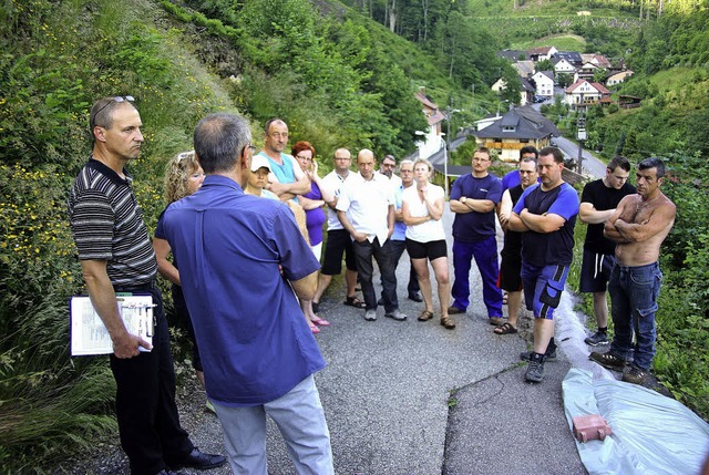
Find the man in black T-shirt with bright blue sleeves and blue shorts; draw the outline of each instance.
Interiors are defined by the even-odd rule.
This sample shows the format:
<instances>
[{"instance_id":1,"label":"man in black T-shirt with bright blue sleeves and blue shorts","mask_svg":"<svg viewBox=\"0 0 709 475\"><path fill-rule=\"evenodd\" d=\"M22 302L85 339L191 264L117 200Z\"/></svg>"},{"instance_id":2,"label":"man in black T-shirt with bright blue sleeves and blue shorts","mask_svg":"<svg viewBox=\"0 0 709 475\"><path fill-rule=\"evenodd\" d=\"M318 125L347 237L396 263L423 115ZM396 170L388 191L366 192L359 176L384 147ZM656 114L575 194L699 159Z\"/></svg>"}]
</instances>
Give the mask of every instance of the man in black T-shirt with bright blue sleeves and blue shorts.
<instances>
[{"instance_id":1,"label":"man in black T-shirt with bright blue sleeves and blue shorts","mask_svg":"<svg viewBox=\"0 0 709 475\"><path fill-rule=\"evenodd\" d=\"M554 310L558 307L574 258L574 225L578 195L564 183L564 154L556 147L540 151L542 184L528 187L510 216L510 229L522 235L522 287L527 310L534 311L534 348L520 357L530 360L526 381L542 382L544 361L555 354Z\"/></svg>"}]
</instances>

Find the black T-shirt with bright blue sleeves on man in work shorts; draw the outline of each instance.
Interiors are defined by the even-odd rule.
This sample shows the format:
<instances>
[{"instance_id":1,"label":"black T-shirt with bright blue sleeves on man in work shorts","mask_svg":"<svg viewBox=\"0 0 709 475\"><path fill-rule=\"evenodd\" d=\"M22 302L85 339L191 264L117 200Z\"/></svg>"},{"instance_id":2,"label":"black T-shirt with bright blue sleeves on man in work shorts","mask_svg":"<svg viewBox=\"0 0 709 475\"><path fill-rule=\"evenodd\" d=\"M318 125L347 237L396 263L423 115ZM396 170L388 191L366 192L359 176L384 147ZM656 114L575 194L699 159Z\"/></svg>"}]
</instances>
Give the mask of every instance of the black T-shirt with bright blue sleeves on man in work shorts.
<instances>
[{"instance_id":1,"label":"black T-shirt with bright blue sleeves on man in work shorts","mask_svg":"<svg viewBox=\"0 0 709 475\"><path fill-rule=\"evenodd\" d=\"M535 215L558 215L566 221L553 233L524 231L522 260L536 267L569 266L574 258L574 226L578 215L576 190L567 183L547 192L540 185L531 186L514 206L514 213L518 215L524 208Z\"/></svg>"}]
</instances>

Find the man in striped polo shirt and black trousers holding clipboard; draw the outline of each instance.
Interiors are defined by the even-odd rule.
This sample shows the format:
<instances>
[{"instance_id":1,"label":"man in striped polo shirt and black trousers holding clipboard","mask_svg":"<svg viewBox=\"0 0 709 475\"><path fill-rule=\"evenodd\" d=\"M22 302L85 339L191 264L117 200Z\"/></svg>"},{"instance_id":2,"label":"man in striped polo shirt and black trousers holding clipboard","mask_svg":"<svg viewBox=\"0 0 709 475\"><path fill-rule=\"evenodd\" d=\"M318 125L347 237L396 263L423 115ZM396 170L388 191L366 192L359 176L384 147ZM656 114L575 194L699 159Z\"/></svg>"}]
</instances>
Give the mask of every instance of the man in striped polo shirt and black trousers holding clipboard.
<instances>
[{"instance_id":1,"label":"man in striped polo shirt and black trousers holding clipboard","mask_svg":"<svg viewBox=\"0 0 709 475\"><path fill-rule=\"evenodd\" d=\"M116 419L131 473L169 474L224 465L199 452L179 426L175 373L162 296L154 286L155 254L124 166L143 143L133 97L104 97L91 109L93 153L74 180L69 218L86 289L113 342ZM116 292L144 292L155 303L153 345L127 332Z\"/></svg>"}]
</instances>

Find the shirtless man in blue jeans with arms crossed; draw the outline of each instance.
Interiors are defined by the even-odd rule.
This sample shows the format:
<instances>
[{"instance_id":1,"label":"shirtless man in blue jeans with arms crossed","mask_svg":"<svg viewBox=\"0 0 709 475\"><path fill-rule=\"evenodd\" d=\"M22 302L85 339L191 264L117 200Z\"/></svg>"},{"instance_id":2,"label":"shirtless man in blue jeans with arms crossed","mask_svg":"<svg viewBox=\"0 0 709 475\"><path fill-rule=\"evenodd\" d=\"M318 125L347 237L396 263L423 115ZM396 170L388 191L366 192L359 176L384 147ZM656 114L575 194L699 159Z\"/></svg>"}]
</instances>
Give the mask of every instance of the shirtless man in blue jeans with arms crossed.
<instances>
[{"instance_id":1,"label":"shirtless man in blue jeans with arms crossed","mask_svg":"<svg viewBox=\"0 0 709 475\"><path fill-rule=\"evenodd\" d=\"M594 351L589 359L623 371L623 381L643 384L655 357L655 312L662 280L657 259L677 209L660 192L665 179L661 159L644 159L636 176L638 193L623 198L604 227L604 236L617 244L616 266L608 282L615 335L607 353ZM634 362L626 369L630 348L635 350Z\"/></svg>"}]
</instances>

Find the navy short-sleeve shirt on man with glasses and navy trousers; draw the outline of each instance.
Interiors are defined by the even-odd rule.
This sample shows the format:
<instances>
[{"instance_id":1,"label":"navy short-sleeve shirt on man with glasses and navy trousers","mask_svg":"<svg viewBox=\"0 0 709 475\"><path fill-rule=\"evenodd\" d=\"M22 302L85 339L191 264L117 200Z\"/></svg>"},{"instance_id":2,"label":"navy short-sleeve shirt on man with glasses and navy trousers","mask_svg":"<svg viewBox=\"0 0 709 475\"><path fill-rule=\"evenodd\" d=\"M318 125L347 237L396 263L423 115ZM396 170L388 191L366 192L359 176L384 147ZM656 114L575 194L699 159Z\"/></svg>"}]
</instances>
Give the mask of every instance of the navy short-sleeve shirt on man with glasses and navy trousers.
<instances>
[{"instance_id":1,"label":"navy short-sleeve shirt on man with glasses and navy trousers","mask_svg":"<svg viewBox=\"0 0 709 475\"><path fill-rule=\"evenodd\" d=\"M473 199L490 199L497 205L502 198L502 185L500 179L491 174L483 178L475 178L472 174L460 176L453 182L451 199L460 199L466 196ZM453 237L461 242L479 242L494 236L495 210L487 213L456 213L453 220Z\"/></svg>"}]
</instances>

